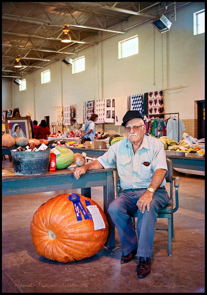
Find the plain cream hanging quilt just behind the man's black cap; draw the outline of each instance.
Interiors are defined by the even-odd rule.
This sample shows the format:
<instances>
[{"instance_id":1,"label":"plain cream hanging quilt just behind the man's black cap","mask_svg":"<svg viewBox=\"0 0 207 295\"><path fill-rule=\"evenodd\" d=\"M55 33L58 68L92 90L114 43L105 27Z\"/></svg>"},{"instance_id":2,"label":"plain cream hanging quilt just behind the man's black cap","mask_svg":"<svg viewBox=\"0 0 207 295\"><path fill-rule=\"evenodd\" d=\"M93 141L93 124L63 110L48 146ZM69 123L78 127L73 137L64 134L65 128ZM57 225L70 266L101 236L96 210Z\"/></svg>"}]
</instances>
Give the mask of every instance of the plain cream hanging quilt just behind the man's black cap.
<instances>
[{"instance_id":1,"label":"plain cream hanging quilt just behind the man's black cap","mask_svg":"<svg viewBox=\"0 0 207 295\"><path fill-rule=\"evenodd\" d=\"M128 96L115 97L115 126L121 125L123 117L129 111Z\"/></svg>"}]
</instances>

